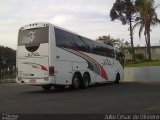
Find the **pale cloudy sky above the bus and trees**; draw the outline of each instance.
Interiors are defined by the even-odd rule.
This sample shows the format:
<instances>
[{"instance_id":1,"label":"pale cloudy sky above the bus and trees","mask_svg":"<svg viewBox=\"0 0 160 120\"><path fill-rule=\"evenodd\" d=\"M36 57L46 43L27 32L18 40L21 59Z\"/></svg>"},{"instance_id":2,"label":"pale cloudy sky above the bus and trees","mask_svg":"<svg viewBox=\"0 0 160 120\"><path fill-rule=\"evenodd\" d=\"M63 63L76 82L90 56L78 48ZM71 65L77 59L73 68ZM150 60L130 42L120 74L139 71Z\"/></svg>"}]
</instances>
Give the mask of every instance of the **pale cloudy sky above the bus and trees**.
<instances>
[{"instance_id":1,"label":"pale cloudy sky above the bus and trees","mask_svg":"<svg viewBox=\"0 0 160 120\"><path fill-rule=\"evenodd\" d=\"M48 22L93 40L102 35L130 42L128 25L111 21L110 9L115 0L0 0L0 45L17 49L20 27ZM156 5L160 4L155 0ZM160 7L156 9L160 18ZM143 34L142 34L143 35ZM152 28L151 43L160 44L160 25ZM134 44L145 45L134 31Z\"/></svg>"}]
</instances>

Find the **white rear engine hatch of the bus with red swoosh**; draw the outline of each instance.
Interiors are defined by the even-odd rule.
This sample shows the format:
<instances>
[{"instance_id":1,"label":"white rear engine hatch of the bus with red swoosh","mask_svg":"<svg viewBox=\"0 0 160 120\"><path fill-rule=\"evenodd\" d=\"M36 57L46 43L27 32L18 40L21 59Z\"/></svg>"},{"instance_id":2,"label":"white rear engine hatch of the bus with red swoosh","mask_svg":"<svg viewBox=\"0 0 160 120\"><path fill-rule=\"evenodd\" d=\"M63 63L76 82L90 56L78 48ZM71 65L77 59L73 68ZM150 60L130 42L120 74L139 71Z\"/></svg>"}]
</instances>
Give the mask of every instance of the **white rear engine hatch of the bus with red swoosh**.
<instances>
[{"instance_id":1,"label":"white rear engine hatch of the bus with red swoosh","mask_svg":"<svg viewBox=\"0 0 160 120\"><path fill-rule=\"evenodd\" d=\"M18 72L21 78L46 78L49 74L48 57L20 58Z\"/></svg>"}]
</instances>

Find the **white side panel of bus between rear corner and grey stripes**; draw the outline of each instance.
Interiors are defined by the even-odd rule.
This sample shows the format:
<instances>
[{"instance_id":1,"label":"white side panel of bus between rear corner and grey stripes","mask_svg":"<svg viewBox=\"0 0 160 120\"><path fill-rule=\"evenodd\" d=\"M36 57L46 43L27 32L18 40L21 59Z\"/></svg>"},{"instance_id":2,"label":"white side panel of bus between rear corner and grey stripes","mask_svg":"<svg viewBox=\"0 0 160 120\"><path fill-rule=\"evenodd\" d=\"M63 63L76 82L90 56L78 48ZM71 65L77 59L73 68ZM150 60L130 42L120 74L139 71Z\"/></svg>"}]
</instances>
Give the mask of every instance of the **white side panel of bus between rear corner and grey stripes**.
<instances>
[{"instance_id":1,"label":"white side panel of bus between rear corner and grey stripes","mask_svg":"<svg viewBox=\"0 0 160 120\"><path fill-rule=\"evenodd\" d=\"M87 71L86 61L75 54L56 47L55 79L56 84L72 84L72 76L76 71Z\"/></svg>"}]
</instances>

